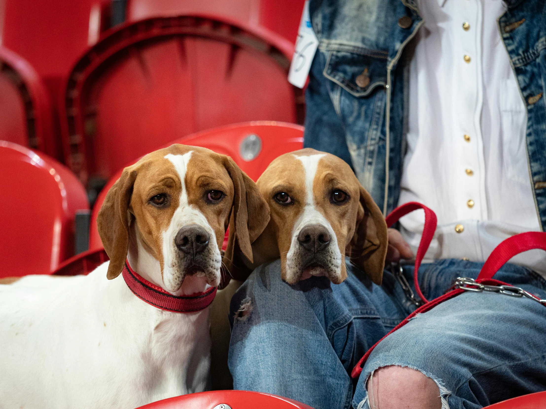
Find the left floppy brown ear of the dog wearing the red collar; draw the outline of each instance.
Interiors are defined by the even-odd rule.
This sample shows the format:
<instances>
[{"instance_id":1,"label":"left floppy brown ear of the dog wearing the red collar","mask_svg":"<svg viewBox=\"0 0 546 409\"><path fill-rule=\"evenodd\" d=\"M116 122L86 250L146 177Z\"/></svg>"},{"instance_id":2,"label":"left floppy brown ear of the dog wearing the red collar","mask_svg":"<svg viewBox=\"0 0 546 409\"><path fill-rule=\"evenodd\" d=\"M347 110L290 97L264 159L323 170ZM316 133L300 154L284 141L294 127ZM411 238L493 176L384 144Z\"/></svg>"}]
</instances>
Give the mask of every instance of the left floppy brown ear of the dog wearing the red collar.
<instances>
[{"instance_id":1,"label":"left floppy brown ear of the dog wearing the red collar","mask_svg":"<svg viewBox=\"0 0 546 409\"><path fill-rule=\"evenodd\" d=\"M120 275L129 249L129 216L127 208L133 193L136 170L126 167L121 177L110 188L99 210L97 225L104 250L110 257L106 277Z\"/></svg>"}]
</instances>

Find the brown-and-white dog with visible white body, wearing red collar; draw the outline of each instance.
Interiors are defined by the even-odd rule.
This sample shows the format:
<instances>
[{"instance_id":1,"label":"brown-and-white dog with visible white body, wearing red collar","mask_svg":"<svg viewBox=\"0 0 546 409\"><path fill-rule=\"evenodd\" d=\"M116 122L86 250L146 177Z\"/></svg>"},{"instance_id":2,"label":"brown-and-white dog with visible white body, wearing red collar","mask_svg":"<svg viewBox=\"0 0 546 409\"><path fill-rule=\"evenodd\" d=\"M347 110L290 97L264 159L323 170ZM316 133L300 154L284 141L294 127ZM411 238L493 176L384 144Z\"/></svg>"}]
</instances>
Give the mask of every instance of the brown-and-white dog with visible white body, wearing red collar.
<instances>
[{"instance_id":1,"label":"brown-and-white dog with visible white body, wearing red collar","mask_svg":"<svg viewBox=\"0 0 546 409\"><path fill-rule=\"evenodd\" d=\"M132 409L205 390L209 310L156 308L125 268L162 297L193 299L219 284L228 224L252 258L268 221L254 182L209 149L173 145L127 167L98 216L110 262L0 285L0 408Z\"/></svg>"}]
</instances>

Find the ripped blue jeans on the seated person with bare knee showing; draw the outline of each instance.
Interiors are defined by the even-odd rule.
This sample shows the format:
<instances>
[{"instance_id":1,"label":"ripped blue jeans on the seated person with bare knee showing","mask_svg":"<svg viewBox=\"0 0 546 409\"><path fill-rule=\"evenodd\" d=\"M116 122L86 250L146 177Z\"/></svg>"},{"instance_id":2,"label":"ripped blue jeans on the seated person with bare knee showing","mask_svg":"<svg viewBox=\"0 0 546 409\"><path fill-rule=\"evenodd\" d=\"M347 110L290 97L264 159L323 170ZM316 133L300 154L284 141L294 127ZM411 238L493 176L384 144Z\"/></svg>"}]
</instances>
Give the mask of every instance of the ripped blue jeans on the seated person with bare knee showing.
<instances>
[{"instance_id":1,"label":"ripped blue jeans on the seated person with bare knee showing","mask_svg":"<svg viewBox=\"0 0 546 409\"><path fill-rule=\"evenodd\" d=\"M458 276L476 278L481 267L452 259L424 264L424 296L440 296ZM481 408L546 390L546 307L498 293L463 293L417 316L383 340L352 380L366 350L415 307L389 272L381 286L349 264L347 273L339 285L323 277L289 285L278 260L254 270L230 308L235 389L315 409L363 409L370 374L399 365L432 378L443 408ZM404 274L412 282L413 266ZM546 298L546 281L525 267L506 264L495 278Z\"/></svg>"}]
</instances>

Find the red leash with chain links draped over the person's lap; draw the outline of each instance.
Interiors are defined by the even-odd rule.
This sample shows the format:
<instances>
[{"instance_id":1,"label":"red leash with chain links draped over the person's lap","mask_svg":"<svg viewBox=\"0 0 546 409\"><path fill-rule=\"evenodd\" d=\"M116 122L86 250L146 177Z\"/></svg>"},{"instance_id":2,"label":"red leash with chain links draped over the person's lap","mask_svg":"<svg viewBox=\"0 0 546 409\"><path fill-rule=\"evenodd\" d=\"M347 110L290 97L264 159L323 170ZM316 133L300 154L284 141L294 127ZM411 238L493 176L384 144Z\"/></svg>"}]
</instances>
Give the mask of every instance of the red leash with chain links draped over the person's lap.
<instances>
[{"instance_id":1,"label":"red leash with chain links draped over the person's lap","mask_svg":"<svg viewBox=\"0 0 546 409\"><path fill-rule=\"evenodd\" d=\"M421 299L426 304L420 306L417 310L413 311L402 322L400 322L396 327L394 327L387 335L383 336L383 338L381 338L379 341L376 342L375 345L373 345L369 350L367 350L364 356L360 358L358 363L354 366L353 371L351 372L351 376L353 378L357 378L358 376L360 376L360 373L362 372L362 369L364 367L366 360L370 356L373 349L377 345L379 345L379 342L383 341L385 338L387 338L387 336L395 332L397 329L405 326L411 320L411 318L413 318L417 314L422 314L423 312L429 311L432 308L434 308L436 305L450 298L458 296L459 294L465 291L468 291L468 290L465 290L465 288L470 288L471 291L484 291L484 287L489 287L489 288L498 287L498 291L496 292L503 292L505 294L518 293L517 297L525 296L527 298L532 298L540 302L544 306L546 306L546 300L541 300L537 298L536 296L533 296L533 294L530 294L523 290L521 290L523 292L520 292L520 291L516 292L513 289L520 290L520 288L512 287L511 285L506 284L506 282L492 279L492 276L495 275L495 273L502 266L504 266L508 262L508 260L510 260L515 255L519 254L520 252L533 250L533 249L546 250L546 233L541 233L541 232L521 233L521 234L516 234L515 236L507 238L498 246L496 246L495 250L491 252L491 255L485 261L482 269L480 270L478 278L476 280L471 280L471 279L458 280L458 283L461 282L461 284L456 284L455 286L450 288L445 294L443 294L443 296L440 296L428 302L423 296L423 293L419 288L417 273L418 273L421 261L423 260L423 257L425 256L425 252L429 248L429 244L432 240L432 237L434 236L434 232L436 231L436 223L437 223L436 214L431 209L424 206L424 204L417 203L417 202L409 202L409 203L402 204L402 206L399 206L396 209L394 209L393 212L391 212L385 220L387 221L387 226L392 226L402 216L410 212L413 212L413 210L417 210L417 209L423 209L425 211L425 225L423 228L423 237L421 238L421 242L419 243L419 248L417 250L417 255L415 260L415 270L413 273L413 281L415 283L417 294L419 295L419 297L421 297ZM490 291L490 290L486 290L486 291Z\"/></svg>"}]
</instances>

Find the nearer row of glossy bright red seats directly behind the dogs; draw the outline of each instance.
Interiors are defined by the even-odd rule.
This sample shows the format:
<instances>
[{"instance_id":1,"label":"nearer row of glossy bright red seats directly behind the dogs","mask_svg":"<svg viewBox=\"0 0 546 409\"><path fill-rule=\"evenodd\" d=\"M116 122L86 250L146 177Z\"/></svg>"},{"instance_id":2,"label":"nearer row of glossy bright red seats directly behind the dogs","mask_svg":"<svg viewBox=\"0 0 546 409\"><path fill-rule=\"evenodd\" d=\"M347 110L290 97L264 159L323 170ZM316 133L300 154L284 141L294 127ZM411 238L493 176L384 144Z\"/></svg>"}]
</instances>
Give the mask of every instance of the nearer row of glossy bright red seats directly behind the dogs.
<instances>
[{"instance_id":1,"label":"nearer row of glossy bright red seats directly behind the dogs","mask_svg":"<svg viewBox=\"0 0 546 409\"><path fill-rule=\"evenodd\" d=\"M171 143L202 146L229 155L256 181L278 155L301 149L303 128L289 123L256 121L203 131L164 145ZM136 160L138 158L124 165ZM0 225L5 240L0 246L0 278L54 272L85 274L108 260L97 231L97 215L122 167L110 178L93 207L90 250L70 257L74 215L76 210L88 209L83 186L72 172L47 155L0 141L2 188L10 193L3 195L0 201Z\"/></svg>"}]
</instances>

